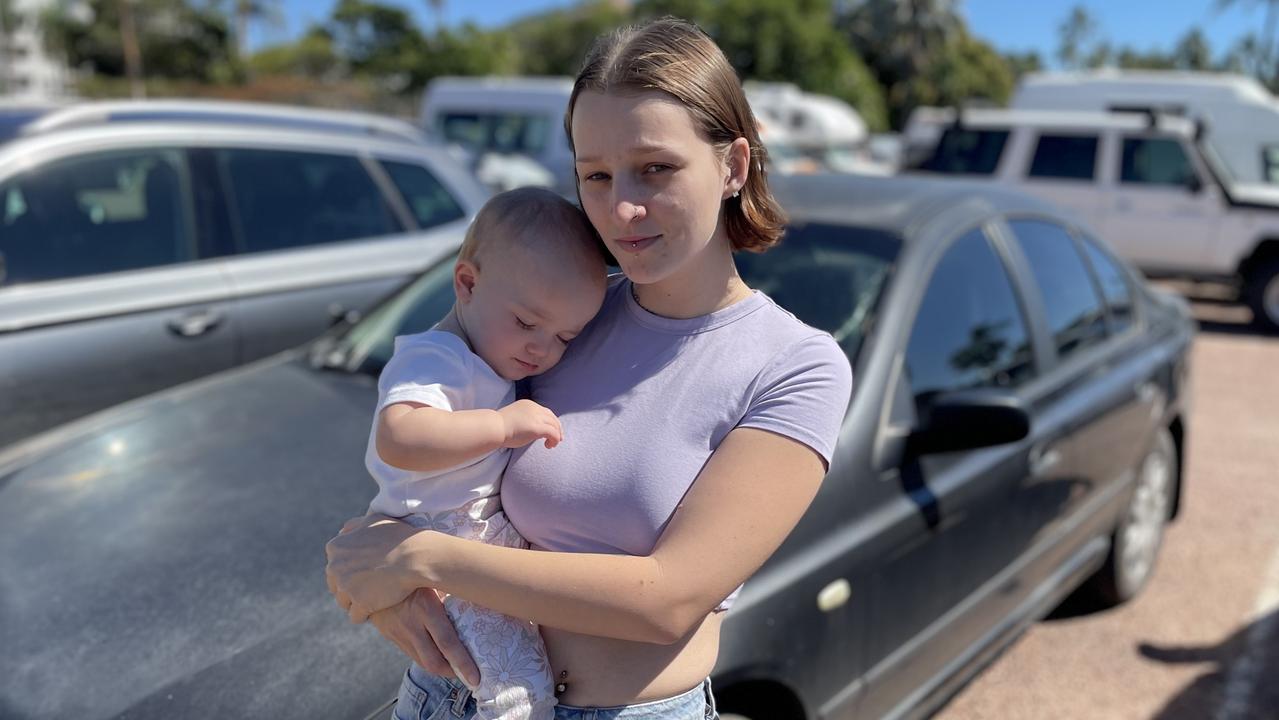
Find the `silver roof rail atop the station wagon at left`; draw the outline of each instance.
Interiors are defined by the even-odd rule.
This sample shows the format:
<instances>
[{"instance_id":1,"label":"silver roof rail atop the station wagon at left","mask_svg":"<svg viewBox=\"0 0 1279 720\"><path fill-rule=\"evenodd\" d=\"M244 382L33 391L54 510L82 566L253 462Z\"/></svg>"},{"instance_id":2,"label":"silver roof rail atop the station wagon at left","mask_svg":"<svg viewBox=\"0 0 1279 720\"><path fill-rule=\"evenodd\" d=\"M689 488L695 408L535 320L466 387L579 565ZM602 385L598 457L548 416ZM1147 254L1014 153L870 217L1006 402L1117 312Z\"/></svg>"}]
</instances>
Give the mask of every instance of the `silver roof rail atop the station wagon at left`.
<instances>
[{"instance_id":1,"label":"silver roof rail atop the station wagon at left","mask_svg":"<svg viewBox=\"0 0 1279 720\"><path fill-rule=\"evenodd\" d=\"M267 102L219 100L123 100L82 102L55 110L23 128L23 134L100 125L114 121L201 121L278 125L381 136L422 142L422 130L393 118L367 113L321 110Z\"/></svg>"}]
</instances>

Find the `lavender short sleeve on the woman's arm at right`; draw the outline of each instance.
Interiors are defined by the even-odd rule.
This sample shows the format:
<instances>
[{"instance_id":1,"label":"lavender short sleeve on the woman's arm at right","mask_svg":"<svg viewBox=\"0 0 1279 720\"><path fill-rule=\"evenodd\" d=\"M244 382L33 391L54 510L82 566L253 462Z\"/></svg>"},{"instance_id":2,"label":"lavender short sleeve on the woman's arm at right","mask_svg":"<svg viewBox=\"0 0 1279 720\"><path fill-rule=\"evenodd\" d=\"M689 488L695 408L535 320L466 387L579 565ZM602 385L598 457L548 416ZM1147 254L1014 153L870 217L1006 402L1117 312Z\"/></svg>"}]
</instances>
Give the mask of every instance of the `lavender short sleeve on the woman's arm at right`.
<instances>
[{"instance_id":1,"label":"lavender short sleeve on the woman's arm at right","mask_svg":"<svg viewBox=\"0 0 1279 720\"><path fill-rule=\"evenodd\" d=\"M816 333L779 350L760 372L738 427L798 440L830 467L852 382L844 352L834 338Z\"/></svg>"}]
</instances>

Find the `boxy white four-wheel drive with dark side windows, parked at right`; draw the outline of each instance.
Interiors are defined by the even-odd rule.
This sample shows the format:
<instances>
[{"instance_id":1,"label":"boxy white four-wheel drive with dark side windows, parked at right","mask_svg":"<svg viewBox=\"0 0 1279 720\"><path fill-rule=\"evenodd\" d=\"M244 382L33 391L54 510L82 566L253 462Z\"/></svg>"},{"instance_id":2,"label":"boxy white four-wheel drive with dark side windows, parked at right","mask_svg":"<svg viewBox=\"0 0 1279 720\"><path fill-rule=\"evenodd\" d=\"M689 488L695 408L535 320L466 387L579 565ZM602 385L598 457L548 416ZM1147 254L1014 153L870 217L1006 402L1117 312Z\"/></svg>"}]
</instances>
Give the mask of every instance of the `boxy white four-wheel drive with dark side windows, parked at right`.
<instances>
[{"instance_id":1,"label":"boxy white four-wheel drive with dark side windows, parked at right","mask_svg":"<svg viewBox=\"0 0 1279 720\"><path fill-rule=\"evenodd\" d=\"M1234 183L1202 128L1154 113L969 110L917 170L1017 185L1149 275L1238 280L1279 331L1279 188Z\"/></svg>"}]
</instances>

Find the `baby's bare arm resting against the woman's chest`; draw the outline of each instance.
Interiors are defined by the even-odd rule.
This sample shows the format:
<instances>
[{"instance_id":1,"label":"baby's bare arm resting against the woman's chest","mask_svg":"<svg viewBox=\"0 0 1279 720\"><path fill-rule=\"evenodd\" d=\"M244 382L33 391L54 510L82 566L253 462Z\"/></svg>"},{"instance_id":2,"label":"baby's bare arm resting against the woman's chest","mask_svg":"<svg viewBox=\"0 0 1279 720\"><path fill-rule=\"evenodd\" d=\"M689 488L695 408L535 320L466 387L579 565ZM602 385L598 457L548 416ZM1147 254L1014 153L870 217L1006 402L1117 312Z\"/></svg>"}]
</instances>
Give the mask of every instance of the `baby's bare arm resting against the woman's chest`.
<instances>
[{"instance_id":1,"label":"baby's bare arm resting against the woman's chest","mask_svg":"<svg viewBox=\"0 0 1279 720\"><path fill-rule=\"evenodd\" d=\"M377 457L405 471L441 471L537 439L554 448L564 431L555 413L532 400L515 400L498 411L393 403L377 414Z\"/></svg>"}]
</instances>

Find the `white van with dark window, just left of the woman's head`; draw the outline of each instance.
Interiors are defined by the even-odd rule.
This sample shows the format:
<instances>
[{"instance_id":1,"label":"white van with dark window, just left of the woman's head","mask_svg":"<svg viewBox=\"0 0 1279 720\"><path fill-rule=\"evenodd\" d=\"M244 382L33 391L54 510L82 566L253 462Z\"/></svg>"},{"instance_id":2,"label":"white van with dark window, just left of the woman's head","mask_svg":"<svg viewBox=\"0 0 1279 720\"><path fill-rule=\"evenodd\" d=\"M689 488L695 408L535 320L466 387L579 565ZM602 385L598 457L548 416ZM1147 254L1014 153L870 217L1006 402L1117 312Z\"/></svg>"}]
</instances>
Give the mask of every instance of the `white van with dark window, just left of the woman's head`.
<instances>
[{"instance_id":1,"label":"white van with dark window, just left of the woman's head","mask_svg":"<svg viewBox=\"0 0 1279 720\"><path fill-rule=\"evenodd\" d=\"M526 156L550 171L554 188L576 194L573 151L564 137L564 110L573 78L435 78L422 96L421 124L476 157Z\"/></svg>"}]
</instances>

